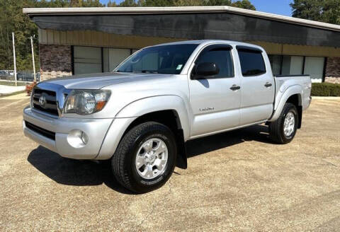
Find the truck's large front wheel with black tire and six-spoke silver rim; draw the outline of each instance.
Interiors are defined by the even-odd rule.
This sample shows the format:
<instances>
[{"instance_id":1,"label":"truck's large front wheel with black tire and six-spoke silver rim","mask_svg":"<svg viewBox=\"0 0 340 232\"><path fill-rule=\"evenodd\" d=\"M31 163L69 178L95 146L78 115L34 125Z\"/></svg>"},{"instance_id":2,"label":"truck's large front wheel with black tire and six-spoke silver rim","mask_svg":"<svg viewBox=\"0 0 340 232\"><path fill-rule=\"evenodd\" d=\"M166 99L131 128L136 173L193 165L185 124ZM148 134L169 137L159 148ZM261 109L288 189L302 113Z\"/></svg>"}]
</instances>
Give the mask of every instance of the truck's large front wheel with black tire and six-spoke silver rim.
<instances>
[{"instance_id":1,"label":"truck's large front wheel with black tire and six-spoke silver rim","mask_svg":"<svg viewBox=\"0 0 340 232\"><path fill-rule=\"evenodd\" d=\"M145 122L120 141L111 163L113 174L132 192L155 190L169 180L176 165L176 141L169 127Z\"/></svg>"}]
</instances>

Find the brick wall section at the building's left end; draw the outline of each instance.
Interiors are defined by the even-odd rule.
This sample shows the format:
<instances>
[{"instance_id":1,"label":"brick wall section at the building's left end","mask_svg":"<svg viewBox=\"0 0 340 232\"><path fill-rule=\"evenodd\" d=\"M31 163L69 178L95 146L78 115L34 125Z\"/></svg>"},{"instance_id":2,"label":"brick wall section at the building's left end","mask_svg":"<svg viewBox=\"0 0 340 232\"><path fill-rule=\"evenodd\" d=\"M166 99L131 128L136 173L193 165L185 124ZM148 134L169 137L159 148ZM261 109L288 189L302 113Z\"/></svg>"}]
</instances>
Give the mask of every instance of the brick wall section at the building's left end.
<instances>
[{"instance_id":1,"label":"brick wall section at the building's left end","mask_svg":"<svg viewBox=\"0 0 340 232\"><path fill-rule=\"evenodd\" d=\"M72 75L72 54L69 45L39 45L42 80Z\"/></svg>"}]
</instances>

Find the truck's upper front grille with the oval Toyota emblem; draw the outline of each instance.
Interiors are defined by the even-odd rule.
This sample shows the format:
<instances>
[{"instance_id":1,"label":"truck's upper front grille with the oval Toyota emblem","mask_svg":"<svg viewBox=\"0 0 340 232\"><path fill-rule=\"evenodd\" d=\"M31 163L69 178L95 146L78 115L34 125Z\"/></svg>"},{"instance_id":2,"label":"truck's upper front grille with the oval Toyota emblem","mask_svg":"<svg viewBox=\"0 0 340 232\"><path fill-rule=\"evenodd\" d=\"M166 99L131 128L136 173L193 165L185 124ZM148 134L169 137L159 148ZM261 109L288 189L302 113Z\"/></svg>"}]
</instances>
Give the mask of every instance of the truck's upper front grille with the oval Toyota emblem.
<instances>
[{"instance_id":1,"label":"truck's upper front grille with the oval Toyota emblem","mask_svg":"<svg viewBox=\"0 0 340 232\"><path fill-rule=\"evenodd\" d=\"M41 97L43 97L43 100L39 101ZM51 115L58 115L57 95L54 91L47 91L40 88L33 89L32 105L36 110L47 112Z\"/></svg>"}]
</instances>

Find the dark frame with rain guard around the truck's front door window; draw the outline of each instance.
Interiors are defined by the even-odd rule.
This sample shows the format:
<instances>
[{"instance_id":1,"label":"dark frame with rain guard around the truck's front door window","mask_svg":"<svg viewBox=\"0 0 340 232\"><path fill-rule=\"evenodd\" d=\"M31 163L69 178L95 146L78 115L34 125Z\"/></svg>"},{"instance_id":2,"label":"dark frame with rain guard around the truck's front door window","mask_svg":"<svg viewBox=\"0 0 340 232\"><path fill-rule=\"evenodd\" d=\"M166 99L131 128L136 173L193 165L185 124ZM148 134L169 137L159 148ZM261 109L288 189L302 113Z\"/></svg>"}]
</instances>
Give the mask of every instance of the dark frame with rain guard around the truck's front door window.
<instances>
[{"instance_id":1,"label":"dark frame with rain guard around the truck's front door window","mask_svg":"<svg viewBox=\"0 0 340 232\"><path fill-rule=\"evenodd\" d=\"M235 66L234 66L234 56L232 54L232 45L228 45L228 44L212 44L212 45L207 45L205 47L203 47L198 54L195 57L195 60L193 61L193 68L190 71L190 77L193 76L193 72L196 69L196 65L198 62L198 59L200 58L200 56L203 54L203 52L207 52L208 50L228 50L229 54L230 54L230 59L232 62L232 76L223 76L223 77L215 77L215 76L208 76L208 77L203 77L203 79L231 79L235 77ZM208 52L209 52L208 51ZM191 78L191 80L193 80Z\"/></svg>"}]
</instances>

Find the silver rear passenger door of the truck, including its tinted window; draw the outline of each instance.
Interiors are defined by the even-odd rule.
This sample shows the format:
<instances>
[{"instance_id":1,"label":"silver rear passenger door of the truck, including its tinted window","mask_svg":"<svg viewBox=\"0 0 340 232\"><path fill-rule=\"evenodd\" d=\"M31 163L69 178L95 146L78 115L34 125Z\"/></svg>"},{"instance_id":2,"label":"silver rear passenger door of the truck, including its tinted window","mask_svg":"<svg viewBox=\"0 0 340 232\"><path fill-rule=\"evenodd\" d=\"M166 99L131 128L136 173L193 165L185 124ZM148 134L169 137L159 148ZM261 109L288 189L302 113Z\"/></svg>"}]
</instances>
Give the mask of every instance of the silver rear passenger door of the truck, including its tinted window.
<instances>
[{"instance_id":1,"label":"silver rear passenger door of the truck, including its tinted window","mask_svg":"<svg viewBox=\"0 0 340 232\"><path fill-rule=\"evenodd\" d=\"M237 46L242 71L240 124L267 120L273 113L275 86L266 53L256 47Z\"/></svg>"}]
</instances>

